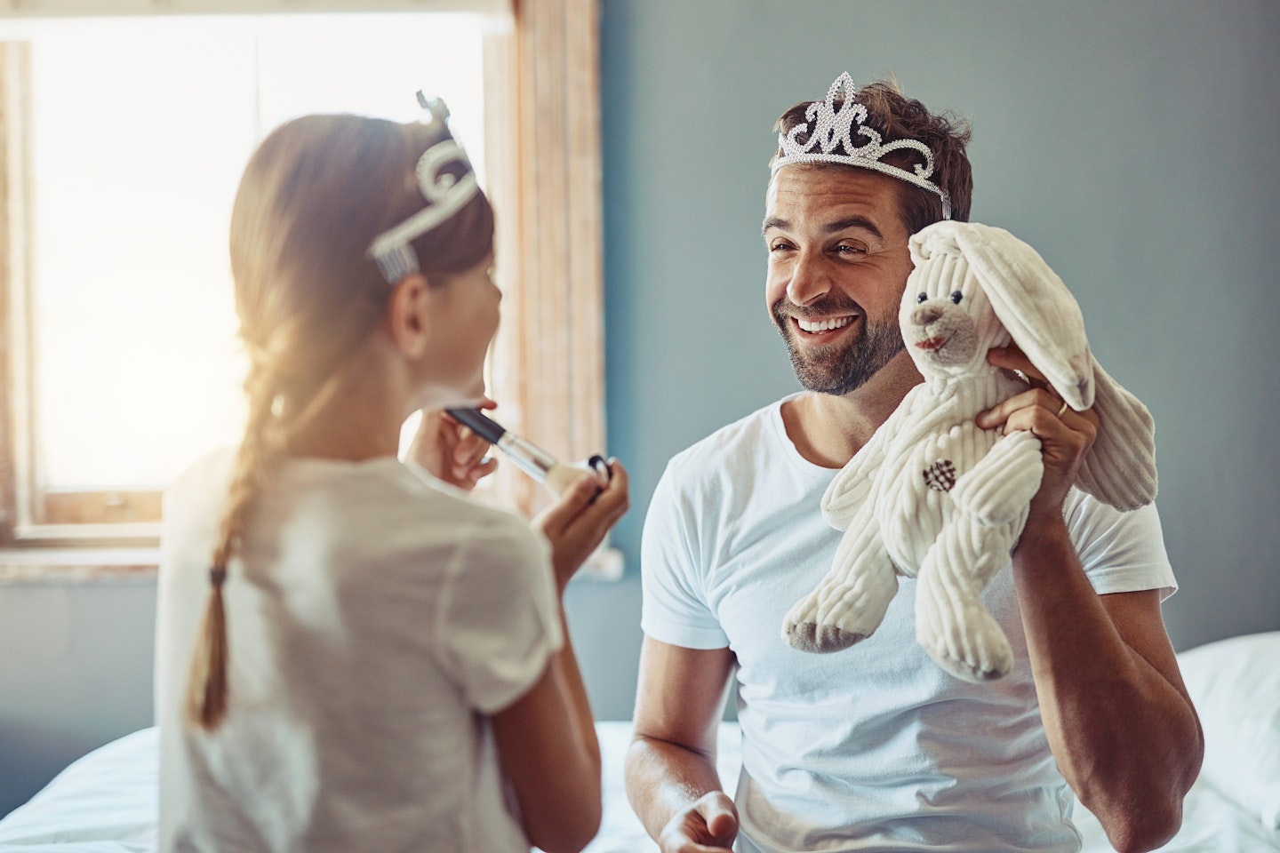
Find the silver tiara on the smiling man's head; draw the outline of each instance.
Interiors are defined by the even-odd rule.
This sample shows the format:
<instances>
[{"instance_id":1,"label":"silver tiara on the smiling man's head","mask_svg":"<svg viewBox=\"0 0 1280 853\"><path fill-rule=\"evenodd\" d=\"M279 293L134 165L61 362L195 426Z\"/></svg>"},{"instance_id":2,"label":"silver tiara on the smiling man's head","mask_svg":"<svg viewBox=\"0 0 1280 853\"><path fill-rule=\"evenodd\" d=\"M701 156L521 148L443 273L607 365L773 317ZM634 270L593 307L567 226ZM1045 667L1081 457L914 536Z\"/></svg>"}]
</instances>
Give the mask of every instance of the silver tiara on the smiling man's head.
<instances>
[{"instance_id":1,"label":"silver tiara on the smiling man's head","mask_svg":"<svg viewBox=\"0 0 1280 853\"><path fill-rule=\"evenodd\" d=\"M841 92L844 93L841 95ZM808 124L797 124L790 132L778 133L778 147L782 153L773 160L772 171L777 173L778 169L791 162L840 162L874 169L937 193L942 198L942 219L951 219L951 198L946 191L929 180L933 174L933 152L929 151L929 147L918 139L895 139L888 145L882 145L883 137L879 130L863 124L867 120L867 107L859 104L855 96L854 79L845 72L827 90L826 101L814 101L805 110L804 118ZM841 100L838 109L836 107L837 97ZM865 145L854 145L855 124L858 125L858 136L867 138ZM799 142L797 137L804 133L808 133L808 138ZM915 164L914 171L881 160L891 151L902 148L920 152L923 162Z\"/></svg>"}]
</instances>

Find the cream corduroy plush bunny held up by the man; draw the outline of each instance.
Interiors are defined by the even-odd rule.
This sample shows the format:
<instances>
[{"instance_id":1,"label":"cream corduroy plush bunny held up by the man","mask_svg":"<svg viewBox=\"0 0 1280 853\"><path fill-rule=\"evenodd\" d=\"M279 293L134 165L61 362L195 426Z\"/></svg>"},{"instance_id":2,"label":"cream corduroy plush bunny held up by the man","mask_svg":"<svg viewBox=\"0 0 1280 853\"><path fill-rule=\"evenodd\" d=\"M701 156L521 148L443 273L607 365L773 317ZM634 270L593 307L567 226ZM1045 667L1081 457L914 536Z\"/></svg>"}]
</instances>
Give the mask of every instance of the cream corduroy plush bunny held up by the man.
<instances>
[{"instance_id":1,"label":"cream corduroy plush bunny held up by the man","mask_svg":"<svg viewBox=\"0 0 1280 853\"><path fill-rule=\"evenodd\" d=\"M942 221L910 249L899 320L924 382L827 487L823 515L845 535L782 637L804 651L847 648L879 625L897 574L915 577L920 645L948 673L983 682L1009 673L1012 650L980 596L1009 564L1043 473L1036 435L974 423L1027 390L987 350L1011 339L1068 405L1093 407L1101 426L1076 486L1117 509L1156 497L1155 428L1089 353L1075 299L1032 247L998 228Z\"/></svg>"}]
</instances>

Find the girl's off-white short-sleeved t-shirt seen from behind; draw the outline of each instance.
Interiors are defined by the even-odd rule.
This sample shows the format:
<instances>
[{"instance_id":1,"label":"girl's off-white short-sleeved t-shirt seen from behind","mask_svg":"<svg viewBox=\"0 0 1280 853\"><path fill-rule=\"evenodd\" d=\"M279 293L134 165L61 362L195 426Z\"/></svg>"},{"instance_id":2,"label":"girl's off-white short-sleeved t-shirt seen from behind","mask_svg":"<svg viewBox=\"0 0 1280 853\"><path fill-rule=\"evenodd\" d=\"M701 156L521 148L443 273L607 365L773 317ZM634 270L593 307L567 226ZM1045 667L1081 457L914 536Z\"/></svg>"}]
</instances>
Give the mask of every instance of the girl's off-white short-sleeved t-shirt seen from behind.
<instances>
[{"instance_id":1,"label":"girl's off-white short-sleeved t-shirt seen from behind","mask_svg":"<svg viewBox=\"0 0 1280 853\"><path fill-rule=\"evenodd\" d=\"M485 715L563 642L547 542L394 458L285 462L229 567L205 733L183 697L232 463L165 496L160 850L527 853Z\"/></svg>"}]
</instances>

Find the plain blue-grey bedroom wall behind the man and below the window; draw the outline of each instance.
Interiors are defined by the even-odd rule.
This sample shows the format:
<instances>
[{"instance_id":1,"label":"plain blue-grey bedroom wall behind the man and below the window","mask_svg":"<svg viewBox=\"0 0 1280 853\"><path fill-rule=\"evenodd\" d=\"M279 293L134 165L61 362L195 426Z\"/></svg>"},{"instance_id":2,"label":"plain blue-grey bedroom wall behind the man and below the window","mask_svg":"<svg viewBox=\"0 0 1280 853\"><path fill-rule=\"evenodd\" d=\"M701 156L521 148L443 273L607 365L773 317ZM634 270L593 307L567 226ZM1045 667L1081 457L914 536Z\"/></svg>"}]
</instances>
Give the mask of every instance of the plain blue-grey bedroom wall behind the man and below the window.
<instances>
[{"instance_id":1,"label":"plain blue-grey bedroom wall behind the man and below the window","mask_svg":"<svg viewBox=\"0 0 1280 853\"><path fill-rule=\"evenodd\" d=\"M602 0L609 451L628 572L568 607L630 714L637 554L667 458L794 390L763 301L773 119L841 70L974 121L974 219L1030 242L1156 416L1179 648L1280 628L1280 6ZM151 721L150 584L0 587L0 815Z\"/></svg>"}]
</instances>

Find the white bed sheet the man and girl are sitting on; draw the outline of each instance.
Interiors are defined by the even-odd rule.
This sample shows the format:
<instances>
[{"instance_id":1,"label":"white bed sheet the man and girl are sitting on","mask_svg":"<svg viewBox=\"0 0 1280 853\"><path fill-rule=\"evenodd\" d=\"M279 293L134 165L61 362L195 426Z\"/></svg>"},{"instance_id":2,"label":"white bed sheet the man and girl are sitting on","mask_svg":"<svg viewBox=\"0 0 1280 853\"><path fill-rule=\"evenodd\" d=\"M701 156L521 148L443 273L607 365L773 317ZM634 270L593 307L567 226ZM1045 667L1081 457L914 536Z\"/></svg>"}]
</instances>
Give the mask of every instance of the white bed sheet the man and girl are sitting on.
<instances>
[{"instance_id":1,"label":"white bed sheet the man and girl are sitting on","mask_svg":"<svg viewBox=\"0 0 1280 853\"><path fill-rule=\"evenodd\" d=\"M655 853L627 804L622 763L630 723L599 723L604 771L604 817L586 853ZM156 730L143 729L91 752L58 775L31 802L0 821L0 853L154 853L157 808ZM737 726L723 724L718 767L724 788L737 784ZM1111 850L1097 820L1076 810L1084 853ZM1187 797L1183 830L1164 853L1280 853L1268 834L1211 783L1201 779Z\"/></svg>"}]
</instances>

